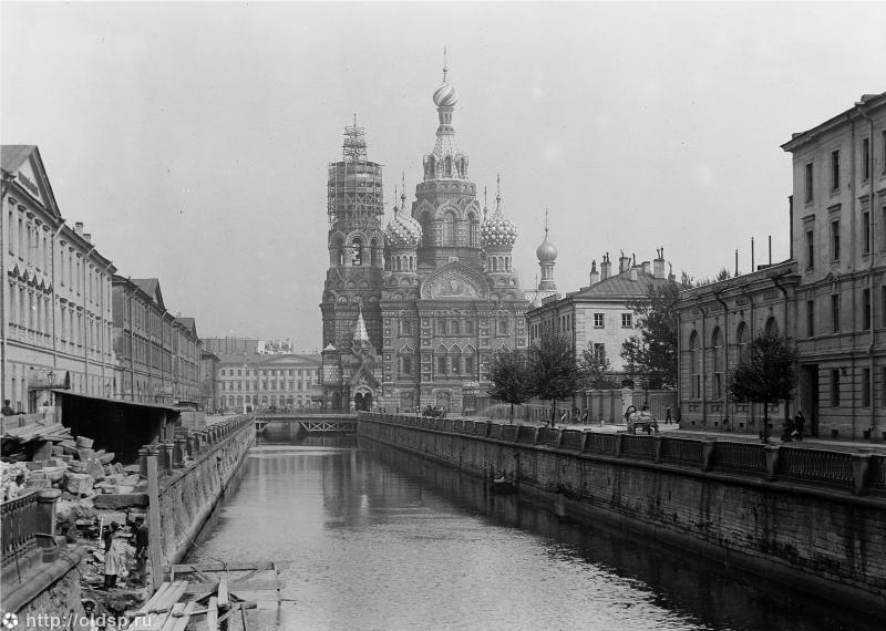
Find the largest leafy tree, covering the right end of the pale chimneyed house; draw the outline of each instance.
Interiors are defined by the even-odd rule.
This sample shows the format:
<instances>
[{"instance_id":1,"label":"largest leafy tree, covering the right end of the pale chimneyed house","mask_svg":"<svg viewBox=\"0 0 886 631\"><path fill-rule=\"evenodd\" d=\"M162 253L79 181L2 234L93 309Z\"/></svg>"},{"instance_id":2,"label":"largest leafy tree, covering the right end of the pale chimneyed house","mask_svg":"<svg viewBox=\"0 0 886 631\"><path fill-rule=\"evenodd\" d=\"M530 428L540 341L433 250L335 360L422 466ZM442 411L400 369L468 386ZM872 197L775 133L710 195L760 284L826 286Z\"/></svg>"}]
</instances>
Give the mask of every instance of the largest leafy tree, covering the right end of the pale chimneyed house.
<instances>
[{"instance_id":1,"label":"largest leafy tree, covering the right end of the pale chimneyed house","mask_svg":"<svg viewBox=\"0 0 886 631\"><path fill-rule=\"evenodd\" d=\"M645 374L653 387L677 385L677 300L680 286L669 281L652 286L646 300L628 303L633 310L639 335L621 344L628 372Z\"/></svg>"}]
</instances>

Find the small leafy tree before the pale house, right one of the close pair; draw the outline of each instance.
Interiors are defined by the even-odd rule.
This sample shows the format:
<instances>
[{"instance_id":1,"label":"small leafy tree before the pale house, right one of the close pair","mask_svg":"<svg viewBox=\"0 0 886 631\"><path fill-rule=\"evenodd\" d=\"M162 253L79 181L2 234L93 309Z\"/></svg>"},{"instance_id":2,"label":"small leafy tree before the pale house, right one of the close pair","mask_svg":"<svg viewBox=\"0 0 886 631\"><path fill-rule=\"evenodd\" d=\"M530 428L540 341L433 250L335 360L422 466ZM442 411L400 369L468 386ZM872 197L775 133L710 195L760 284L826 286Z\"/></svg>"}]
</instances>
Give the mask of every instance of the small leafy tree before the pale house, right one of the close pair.
<instances>
[{"instance_id":1,"label":"small leafy tree before the pale house, right one of the close pair","mask_svg":"<svg viewBox=\"0 0 886 631\"><path fill-rule=\"evenodd\" d=\"M571 396L581 381L573 342L566 335L546 333L529 349L533 391L538 399L552 401L550 424L556 422L557 400Z\"/></svg>"}]
</instances>

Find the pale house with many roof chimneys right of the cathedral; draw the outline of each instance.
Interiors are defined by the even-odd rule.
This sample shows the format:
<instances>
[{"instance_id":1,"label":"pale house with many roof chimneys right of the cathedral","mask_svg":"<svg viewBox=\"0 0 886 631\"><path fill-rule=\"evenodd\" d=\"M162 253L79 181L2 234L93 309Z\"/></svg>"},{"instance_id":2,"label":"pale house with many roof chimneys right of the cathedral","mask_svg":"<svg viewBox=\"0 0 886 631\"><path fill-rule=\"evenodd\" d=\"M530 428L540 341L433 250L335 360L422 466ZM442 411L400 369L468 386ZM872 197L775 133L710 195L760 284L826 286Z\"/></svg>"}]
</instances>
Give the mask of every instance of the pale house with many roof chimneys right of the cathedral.
<instances>
[{"instance_id":1,"label":"pale house with many roof chimneys right of the cathedral","mask_svg":"<svg viewBox=\"0 0 886 631\"><path fill-rule=\"evenodd\" d=\"M543 245L545 242L547 236ZM556 257L556 250L554 252ZM625 361L621 359L622 343L638 334L637 317L630 303L646 300L652 287L673 282L673 276L664 270L662 250L658 251L651 265L649 261L633 263L631 257L622 255L616 273L612 273L612 263L607 254L600 269L597 272L595 260L590 285L578 291L564 297L555 293L540 301L537 298L533 301L532 308L526 312L529 343L535 343L545 334L567 335L573 341L578 358L585 349L590 349L600 358L609 360L614 380L632 382L638 375L627 374Z\"/></svg>"}]
</instances>

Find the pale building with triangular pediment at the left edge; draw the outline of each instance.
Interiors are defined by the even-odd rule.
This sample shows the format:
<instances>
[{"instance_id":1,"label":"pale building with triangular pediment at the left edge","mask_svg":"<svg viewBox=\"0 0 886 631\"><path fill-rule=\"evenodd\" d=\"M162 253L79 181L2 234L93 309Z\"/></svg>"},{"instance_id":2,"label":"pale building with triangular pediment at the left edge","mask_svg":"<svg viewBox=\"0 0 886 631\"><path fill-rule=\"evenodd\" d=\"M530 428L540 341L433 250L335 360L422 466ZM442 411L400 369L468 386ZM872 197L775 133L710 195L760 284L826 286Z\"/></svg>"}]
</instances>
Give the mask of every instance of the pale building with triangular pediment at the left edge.
<instances>
[{"instance_id":1,"label":"pale building with triangular pediment at the left edge","mask_svg":"<svg viewBox=\"0 0 886 631\"><path fill-rule=\"evenodd\" d=\"M110 396L114 265L65 224L38 147L1 152L0 399L27 413L53 390Z\"/></svg>"}]
</instances>

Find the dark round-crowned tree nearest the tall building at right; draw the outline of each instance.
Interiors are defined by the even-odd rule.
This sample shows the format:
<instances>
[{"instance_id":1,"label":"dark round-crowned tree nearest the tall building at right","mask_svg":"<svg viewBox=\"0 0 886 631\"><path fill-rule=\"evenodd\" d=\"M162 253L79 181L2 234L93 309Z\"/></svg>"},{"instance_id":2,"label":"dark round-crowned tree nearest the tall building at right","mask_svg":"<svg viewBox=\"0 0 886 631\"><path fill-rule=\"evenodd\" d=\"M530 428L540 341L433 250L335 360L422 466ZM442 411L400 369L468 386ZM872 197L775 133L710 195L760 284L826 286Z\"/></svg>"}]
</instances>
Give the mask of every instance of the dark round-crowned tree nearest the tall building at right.
<instances>
[{"instance_id":1,"label":"dark round-crowned tree nearest the tall building at right","mask_svg":"<svg viewBox=\"0 0 886 631\"><path fill-rule=\"evenodd\" d=\"M796 356L777 333L761 333L751 342L748 359L729 375L734 401L763 404L763 432L769 442L769 406L791 397L796 386Z\"/></svg>"}]
</instances>

